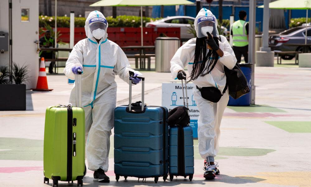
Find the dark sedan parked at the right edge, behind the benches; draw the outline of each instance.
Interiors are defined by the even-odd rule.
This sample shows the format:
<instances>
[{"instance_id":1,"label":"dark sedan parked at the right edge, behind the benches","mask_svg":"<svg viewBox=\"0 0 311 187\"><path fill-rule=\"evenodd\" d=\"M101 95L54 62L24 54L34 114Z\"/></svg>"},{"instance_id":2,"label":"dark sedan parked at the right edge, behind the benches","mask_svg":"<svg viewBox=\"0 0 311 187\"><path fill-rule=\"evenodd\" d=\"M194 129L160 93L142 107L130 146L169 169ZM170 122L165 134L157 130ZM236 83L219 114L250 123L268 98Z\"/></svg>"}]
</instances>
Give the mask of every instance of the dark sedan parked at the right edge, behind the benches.
<instances>
[{"instance_id":1,"label":"dark sedan parked at the right edge, behind the benches","mask_svg":"<svg viewBox=\"0 0 311 187\"><path fill-rule=\"evenodd\" d=\"M280 32L277 35L272 35L269 37L269 46L271 50L280 50L280 51L303 51L303 46L287 46L284 44L304 44L305 42L305 26L297 26L290 28L283 32ZM307 27L307 44L311 44L311 26ZM309 52L311 47L309 47ZM291 60L293 55L283 55L282 59Z\"/></svg>"}]
</instances>

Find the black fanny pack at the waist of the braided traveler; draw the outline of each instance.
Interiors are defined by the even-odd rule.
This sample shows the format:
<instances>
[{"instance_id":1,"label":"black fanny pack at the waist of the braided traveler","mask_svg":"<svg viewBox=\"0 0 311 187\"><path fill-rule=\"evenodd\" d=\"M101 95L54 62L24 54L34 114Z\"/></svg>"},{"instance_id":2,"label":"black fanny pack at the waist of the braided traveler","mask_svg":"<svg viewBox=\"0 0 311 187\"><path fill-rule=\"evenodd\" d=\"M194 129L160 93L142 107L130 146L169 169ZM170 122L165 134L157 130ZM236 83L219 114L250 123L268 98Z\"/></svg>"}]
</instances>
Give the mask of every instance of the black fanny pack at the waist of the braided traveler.
<instances>
[{"instance_id":1,"label":"black fanny pack at the waist of the braided traveler","mask_svg":"<svg viewBox=\"0 0 311 187\"><path fill-rule=\"evenodd\" d=\"M227 90L227 83L225 85L225 88L224 88L224 91L223 93L220 92L220 90L218 88L215 88L215 87L202 87L202 88L199 88L198 86L196 86L196 88L201 92L201 96L202 98L208 100L208 101L211 101L213 103L217 103L221 96L224 95L224 93L226 92Z\"/></svg>"}]
</instances>

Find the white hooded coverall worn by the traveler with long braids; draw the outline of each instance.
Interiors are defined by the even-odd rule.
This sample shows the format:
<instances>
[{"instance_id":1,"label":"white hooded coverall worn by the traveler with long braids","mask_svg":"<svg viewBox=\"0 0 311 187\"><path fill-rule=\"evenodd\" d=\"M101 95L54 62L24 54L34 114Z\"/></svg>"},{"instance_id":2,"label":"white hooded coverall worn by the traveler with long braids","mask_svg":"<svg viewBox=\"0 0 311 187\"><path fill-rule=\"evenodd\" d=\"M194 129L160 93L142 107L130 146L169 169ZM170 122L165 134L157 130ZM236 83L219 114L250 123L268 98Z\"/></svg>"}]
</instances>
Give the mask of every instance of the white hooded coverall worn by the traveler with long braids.
<instances>
[{"instance_id":1,"label":"white hooded coverall worn by the traveler with long braids","mask_svg":"<svg viewBox=\"0 0 311 187\"><path fill-rule=\"evenodd\" d=\"M207 16L215 17L212 12L205 8L202 8L196 16L194 26L197 33L200 32L197 29L198 19ZM215 24L217 27L217 19L215 18L215 20ZM203 77L199 76L196 80L193 81L193 83L199 88L210 86L216 87L215 85L217 85L220 92L222 92L226 84L224 65L227 68L232 69L237 62L234 52L226 37L220 37L221 41L219 41L219 48L224 52L224 56L219 58L214 69L209 74ZM194 62L195 48L196 38L192 38L177 50L171 60L171 73L173 79L177 79L177 73L180 70L184 70L184 67L186 65L188 67L188 73L191 74ZM206 54L208 53L208 50L209 49L207 49ZM193 90L193 95L200 111L200 116L198 119L198 139L200 155L203 159L206 159L207 156L214 157L217 155L219 150L219 127L224 113L224 109L226 108L229 101L229 92L226 91L226 93L224 93L218 103L212 103L202 98L200 91L196 87Z\"/></svg>"}]
</instances>

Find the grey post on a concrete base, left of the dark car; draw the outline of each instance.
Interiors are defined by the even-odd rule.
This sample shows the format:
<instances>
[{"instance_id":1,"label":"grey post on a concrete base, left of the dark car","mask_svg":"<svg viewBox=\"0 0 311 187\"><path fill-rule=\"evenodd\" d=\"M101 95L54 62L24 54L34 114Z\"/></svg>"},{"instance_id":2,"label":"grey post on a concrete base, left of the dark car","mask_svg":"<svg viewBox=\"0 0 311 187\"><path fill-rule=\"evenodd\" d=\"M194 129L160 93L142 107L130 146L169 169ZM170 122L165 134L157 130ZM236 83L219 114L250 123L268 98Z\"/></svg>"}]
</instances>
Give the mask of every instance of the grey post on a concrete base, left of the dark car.
<instances>
[{"instance_id":1,"label":"grey post on a concrete base, left of the dark car","mask_svg":"<svg viewBox=\"0 0 311 187\"><path fill-rule=\"evenodd\" d=\"M256 66L274 66L274 52L269 47L269 0L264 0L262 47L256 52Z\"/></svg>"}]
</instances>

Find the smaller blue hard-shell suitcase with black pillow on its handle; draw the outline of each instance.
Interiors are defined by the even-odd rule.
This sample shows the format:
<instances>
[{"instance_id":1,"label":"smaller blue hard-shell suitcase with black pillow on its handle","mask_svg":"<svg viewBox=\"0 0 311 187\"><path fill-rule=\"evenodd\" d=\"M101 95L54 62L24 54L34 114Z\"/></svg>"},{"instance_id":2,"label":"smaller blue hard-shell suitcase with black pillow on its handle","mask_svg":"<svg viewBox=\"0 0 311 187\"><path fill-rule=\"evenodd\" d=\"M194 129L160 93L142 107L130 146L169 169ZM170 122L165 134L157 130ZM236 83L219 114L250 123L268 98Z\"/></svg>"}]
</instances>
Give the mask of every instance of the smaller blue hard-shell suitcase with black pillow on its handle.
<instances>
[{"instance_id":1,"label":"smaller blue hard-shell suitcase with black pillow on its handle","mask_svg":"<svg viewBox=\"0 0 311 187\"><path fill-rule=\"evenodd\" d=\"M182 83L182 82L181 82ZM184 89L182 85L182 92ZM185 87L187 85L185 83ZM185 98L185 96L183 96ZM186 90L188 108L188 96ZM185 100L184 100L185 105ZM172 181L174 176L189 176L191 181L194 174L193 132L189 125L181 127L178 124L169 127L169 175Z\"/></svg>"}]
</instances>

